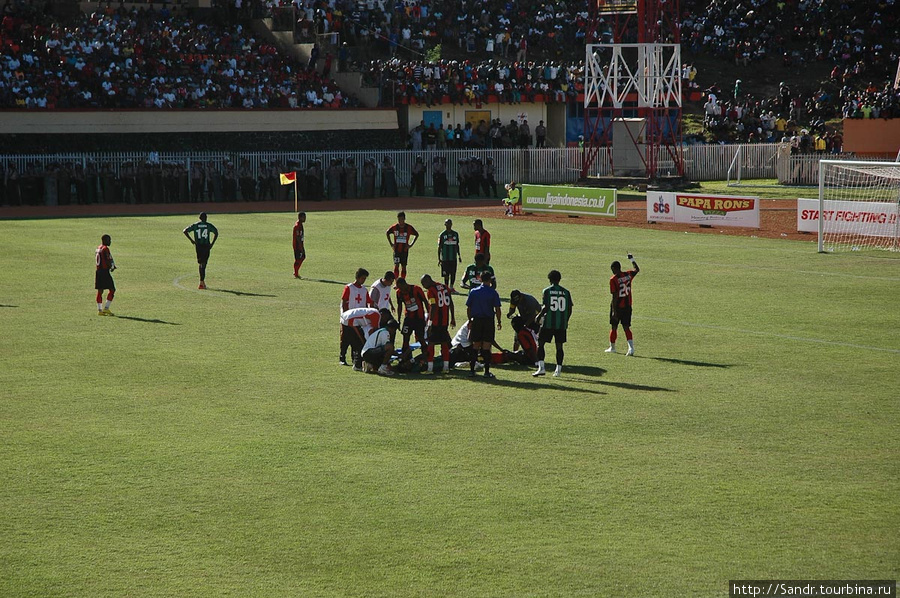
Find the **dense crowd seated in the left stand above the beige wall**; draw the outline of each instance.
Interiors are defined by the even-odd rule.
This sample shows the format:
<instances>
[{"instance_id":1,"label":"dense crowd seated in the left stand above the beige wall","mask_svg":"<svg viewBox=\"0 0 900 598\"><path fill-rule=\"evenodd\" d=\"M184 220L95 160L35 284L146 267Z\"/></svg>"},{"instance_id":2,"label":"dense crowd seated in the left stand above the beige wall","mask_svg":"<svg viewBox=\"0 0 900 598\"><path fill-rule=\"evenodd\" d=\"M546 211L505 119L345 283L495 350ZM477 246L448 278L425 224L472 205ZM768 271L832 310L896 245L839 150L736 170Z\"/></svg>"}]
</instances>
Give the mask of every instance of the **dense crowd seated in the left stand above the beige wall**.
<instances>
[{"instance_id":1,"label":"dense crowd seated in the left stand above the beige wall","mask_svg":"<svg viewBox=\"0 0 900 598\"><path fill-rule=\"evenodd\" d=\"M0 108L354 105L333 80L241 24L197 23L143 7L61 24L29 6L6 10L0 22Z\"/></svg>"}]
</instances>

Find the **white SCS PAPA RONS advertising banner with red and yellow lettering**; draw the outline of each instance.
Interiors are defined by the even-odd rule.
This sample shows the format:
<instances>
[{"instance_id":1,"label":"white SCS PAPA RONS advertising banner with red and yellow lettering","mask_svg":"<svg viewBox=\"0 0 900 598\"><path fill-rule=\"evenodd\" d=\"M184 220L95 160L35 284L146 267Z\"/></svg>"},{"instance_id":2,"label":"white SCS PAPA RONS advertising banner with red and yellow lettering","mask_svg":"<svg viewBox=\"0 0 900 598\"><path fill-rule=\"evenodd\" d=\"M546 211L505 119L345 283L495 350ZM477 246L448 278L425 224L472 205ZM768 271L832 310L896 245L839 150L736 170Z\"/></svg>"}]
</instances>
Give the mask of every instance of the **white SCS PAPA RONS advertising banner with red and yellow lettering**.
<instances>
[{"instance_id":1,"label":"white SCS PAPA RONS advertising banner with red and yellow lettering","mask_svg":"<svg viewBox=\"0 0 900 598\"><path fill-rule=\"evenodd\" d=\"M759 228L759 198L648 191L647 220Z\"/></svg>"}]
</instances>

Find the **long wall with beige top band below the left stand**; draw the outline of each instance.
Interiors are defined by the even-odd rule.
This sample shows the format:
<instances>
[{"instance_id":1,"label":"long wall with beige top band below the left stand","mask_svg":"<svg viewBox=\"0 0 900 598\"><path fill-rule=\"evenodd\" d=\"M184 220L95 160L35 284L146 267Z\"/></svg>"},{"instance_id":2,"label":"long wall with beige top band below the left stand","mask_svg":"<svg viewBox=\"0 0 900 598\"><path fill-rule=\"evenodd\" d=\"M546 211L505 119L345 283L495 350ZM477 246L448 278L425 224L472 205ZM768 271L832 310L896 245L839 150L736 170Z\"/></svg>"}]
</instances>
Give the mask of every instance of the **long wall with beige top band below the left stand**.
<instances>
[{"instance_id":1,"label":"long wall with beige top band below the left stand","mask_svg":"<svg viewBox=\"0 0 900 598\"><path fill-rule=\"evenodd\" d=\"M0 153L395 149L397 111L0 112Z\"/></svg>"}]
</instances>

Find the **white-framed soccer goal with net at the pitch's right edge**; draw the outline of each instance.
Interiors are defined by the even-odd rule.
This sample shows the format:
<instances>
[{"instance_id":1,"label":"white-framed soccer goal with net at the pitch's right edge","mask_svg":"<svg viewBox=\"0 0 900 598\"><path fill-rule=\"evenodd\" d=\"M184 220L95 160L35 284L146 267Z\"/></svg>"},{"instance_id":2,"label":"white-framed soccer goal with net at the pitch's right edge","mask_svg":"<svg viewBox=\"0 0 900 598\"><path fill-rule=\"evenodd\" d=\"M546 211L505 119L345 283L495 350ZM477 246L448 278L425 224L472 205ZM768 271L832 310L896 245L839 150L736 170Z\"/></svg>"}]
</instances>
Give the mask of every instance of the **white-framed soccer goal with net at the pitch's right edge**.
<instances>
[{"instance_id":1,"label":"white-framed soccer goal with net at the pitch's right edge","mask_svg":"<svg viewBox=\"0 0 900 598\"><path fill-rule=\"evenodd\" d=\"M900 250L900 163L819 162L819 251Z\"/></svg>"}]
</instances>

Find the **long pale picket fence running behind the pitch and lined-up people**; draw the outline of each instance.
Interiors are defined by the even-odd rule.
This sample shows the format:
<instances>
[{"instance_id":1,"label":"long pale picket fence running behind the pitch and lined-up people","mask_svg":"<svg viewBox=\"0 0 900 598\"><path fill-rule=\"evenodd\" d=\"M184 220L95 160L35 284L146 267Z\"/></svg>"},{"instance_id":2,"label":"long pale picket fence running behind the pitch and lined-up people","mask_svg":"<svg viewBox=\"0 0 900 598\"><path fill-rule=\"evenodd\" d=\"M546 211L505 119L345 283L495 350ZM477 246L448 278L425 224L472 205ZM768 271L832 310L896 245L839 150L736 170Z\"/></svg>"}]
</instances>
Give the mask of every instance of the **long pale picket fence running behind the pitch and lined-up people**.
<instances>
[{"instance_id":1,"label":"long pale picket fence running behind the pitch and lined-up people","mask_svg":"<svg viewBox=\"0 0 900 598\"><path fill-rule=\"evenodd\" d=\"M685 176L690 180L726 180L729 165L738 158L743 177L775 178L777 144L692 145L683 148ZM446 160L447 179L457 184L462 160L490 158L495 179L531 184L571 184L581 175L583 149L452 149L425 151L329 151L329 152L188 152L188 153L92 153L0 156L0 203L4 205L57 205L66 203L165 203L175 201L234 201L287 199L288 188L276 185L281 172L297 171L300 178L318 168L327 189L329 170L340 160L343 176L354 178L361 197L363 165L377 166L376 190L385 166L393 168L399 193L411 188L413 165L421 157L426 165L426 187L432 186L434 158ZM589 176L608 176L610 156L601 148ZM352 161L352 165L350 165ZM315 164L318 162L319 166ZM674 162L662 152L660 174L675 174ZM390 170L390 169L388 169ZM198 176L199 173L199 176ZM198 186L200 188L198 188ZM264 197L263 194L265 194ZM274 197L273 197L274 196Z\"/></svg>"}]
</instances>

